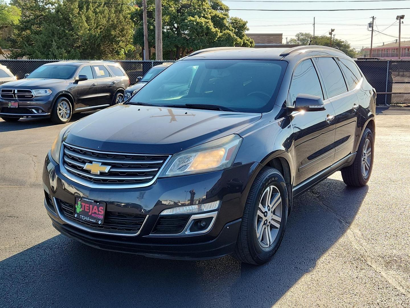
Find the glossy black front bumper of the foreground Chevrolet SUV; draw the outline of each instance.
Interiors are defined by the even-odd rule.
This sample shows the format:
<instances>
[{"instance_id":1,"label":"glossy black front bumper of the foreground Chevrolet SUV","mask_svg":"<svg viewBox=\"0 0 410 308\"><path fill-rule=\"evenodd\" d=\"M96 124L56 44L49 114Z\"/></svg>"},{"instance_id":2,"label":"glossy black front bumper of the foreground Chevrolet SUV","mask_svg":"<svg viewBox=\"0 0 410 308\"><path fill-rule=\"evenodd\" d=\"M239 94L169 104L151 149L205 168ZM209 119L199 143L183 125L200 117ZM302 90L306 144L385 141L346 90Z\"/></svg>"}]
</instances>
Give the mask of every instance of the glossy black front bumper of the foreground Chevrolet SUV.
<instances>
[{"instance_id":1,"label":"glossy black front bumper of the foreground Chevrolet SUV","mask_svg":"<svg viewBox=\"0 0 410 308\"><path fill-rule=\"evenodd\" d=\"M68 179L48 155L43 169L43 186L58 208L53 210L47 201L45 207L59 232L96 248L151 257L216 258L232 253L235 248L246 196L257 167L258 163L248 163L223 171L159 178L153 185L143 188L103 189L89 188ZM78 223L70 223L61 211L58 200L74 204L76 196L104 201L110 213L141 214L146 215L146 219L134 236L90 232L78 228ZM222 202L212 228L206 233L153 233L164 209L216 200Z\"/></svg>"}]
</instances>

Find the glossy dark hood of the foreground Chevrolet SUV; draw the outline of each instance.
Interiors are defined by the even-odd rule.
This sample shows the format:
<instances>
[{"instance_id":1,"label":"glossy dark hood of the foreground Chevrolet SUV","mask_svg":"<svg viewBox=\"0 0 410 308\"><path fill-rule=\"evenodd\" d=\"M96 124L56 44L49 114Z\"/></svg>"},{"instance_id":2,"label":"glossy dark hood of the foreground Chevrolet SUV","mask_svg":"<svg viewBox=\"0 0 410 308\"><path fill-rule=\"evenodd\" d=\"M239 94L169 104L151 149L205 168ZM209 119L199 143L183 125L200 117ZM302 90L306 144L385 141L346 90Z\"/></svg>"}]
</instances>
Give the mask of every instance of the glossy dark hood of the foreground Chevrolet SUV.
<instances>
[{"instance_id":1,"label":"glossy dark hood of the foreground Chevrolet SUV","mask_svg":"<svg viewBox=\"0 0 410 308\"><path fill-rule=\"evenodd\" d=\"M74 123L64 141L111 152L175 154L235 133L260 117L260 113L121 104Z\"/></svg>"}]
</instances>

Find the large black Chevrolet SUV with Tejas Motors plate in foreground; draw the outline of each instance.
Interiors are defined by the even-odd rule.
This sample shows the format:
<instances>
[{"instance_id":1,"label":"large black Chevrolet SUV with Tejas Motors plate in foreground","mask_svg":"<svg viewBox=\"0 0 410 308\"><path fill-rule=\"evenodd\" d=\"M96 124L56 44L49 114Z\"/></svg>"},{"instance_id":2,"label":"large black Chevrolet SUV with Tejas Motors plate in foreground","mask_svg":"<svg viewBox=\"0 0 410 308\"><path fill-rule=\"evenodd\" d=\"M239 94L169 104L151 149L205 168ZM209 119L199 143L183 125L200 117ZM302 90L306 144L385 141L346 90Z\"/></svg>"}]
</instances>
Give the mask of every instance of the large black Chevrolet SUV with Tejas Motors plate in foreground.
<instances>
[{"instance_id":1,"label":"large black Chevrolet SUV with Tejas Motors plate in foreground","mask_svg":"<svg viewBox=\"0 0 410 308\"><path fill-rule=\"evenodd\" d=\"M333 48L197 51L65 127L44 204L59 232L93 247L262 264L297 195L338 170L347 185L369 181L375 107Z\"/></svg>"}]
</instances>

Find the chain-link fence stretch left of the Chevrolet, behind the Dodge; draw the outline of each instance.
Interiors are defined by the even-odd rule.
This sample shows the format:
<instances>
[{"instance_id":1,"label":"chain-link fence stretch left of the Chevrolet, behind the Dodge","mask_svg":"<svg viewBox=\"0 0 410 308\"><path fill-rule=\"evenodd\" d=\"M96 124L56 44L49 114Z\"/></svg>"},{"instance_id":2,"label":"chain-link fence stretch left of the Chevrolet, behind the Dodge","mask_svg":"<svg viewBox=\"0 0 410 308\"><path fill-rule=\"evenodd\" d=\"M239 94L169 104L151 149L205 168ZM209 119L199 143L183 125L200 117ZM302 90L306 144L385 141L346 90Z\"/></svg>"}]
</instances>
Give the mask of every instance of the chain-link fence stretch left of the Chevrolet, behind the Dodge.
<instances>
[{"instance_id":1,"label":"chain-link fence stretch left of the Chevrolet, behind the Dodge","mask_svg":"<svg viewBox=\"0 0 410 308\"><path fill-rule=\"evenodd\" d=\"M61 60L0 60L0 64L8 67L8 69L17 76L18 79L24 78L25 74L30 74L37 67L46 63L57 62ZM87 60L84 60L87 61ZM144 76L152 67L162 64L164 62L172 61L113 61L118 62L123 67L124 71L130 78L130 84L133 85L137 81L137 77Z\"/></svg>"}]
</instances>

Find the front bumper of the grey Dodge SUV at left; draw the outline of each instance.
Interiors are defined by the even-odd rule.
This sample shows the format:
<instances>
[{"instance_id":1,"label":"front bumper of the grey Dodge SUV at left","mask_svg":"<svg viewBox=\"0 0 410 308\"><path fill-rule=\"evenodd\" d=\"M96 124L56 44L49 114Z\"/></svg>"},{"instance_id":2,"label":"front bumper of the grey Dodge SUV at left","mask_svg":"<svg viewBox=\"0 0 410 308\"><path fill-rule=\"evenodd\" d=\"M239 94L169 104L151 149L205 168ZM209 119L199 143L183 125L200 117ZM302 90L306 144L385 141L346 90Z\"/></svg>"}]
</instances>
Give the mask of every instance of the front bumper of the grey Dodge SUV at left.
<instances>
[{"instance_id":1,"label":"front bumper of the grey Dodge SUV at left","mask_svg":"<svg viewBox=\"0 0 410 308\"><path fill-rule=\"evenodd\" d=\"M49 117L54 95L34 97L30 100L7 100L0 98L0 116L7 117ZM17 101L18 108L9 107L10 101Z\"/></svg>"}]
</instances>

